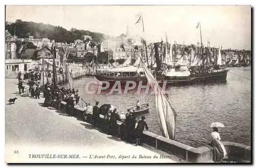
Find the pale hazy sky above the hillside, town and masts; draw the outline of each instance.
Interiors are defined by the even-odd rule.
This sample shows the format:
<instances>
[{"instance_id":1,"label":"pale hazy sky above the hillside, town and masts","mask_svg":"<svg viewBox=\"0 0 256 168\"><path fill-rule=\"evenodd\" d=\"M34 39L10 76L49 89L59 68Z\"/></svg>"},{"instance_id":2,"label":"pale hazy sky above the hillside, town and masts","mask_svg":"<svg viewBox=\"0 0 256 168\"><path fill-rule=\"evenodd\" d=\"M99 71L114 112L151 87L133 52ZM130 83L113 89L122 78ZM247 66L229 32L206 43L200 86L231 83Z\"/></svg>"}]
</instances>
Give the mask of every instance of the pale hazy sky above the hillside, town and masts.
<instances>
[{"instance_id":1,"label":"pale hazy sky above the hillside, town and masts","mask_svg":"<svg viewBox=\"0 0 256 168\"><path fill-rule=\"evenodd\" d=\"M142 15L142 22L135 25ZM251 6L6 6L6 21L34 21L119 36L129 28L147 42L196 44L251 50Z\"/></svg>"}]
</instances>

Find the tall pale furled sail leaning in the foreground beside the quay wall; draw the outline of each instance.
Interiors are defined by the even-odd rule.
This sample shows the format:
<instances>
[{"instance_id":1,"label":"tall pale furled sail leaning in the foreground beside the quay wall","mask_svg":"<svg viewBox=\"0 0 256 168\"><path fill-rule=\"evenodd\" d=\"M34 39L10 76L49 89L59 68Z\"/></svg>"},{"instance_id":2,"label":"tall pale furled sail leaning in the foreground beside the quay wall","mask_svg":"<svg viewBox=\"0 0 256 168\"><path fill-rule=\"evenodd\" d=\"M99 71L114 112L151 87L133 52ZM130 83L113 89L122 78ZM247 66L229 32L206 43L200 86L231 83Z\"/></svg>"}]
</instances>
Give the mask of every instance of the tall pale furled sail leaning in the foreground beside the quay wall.
<instances>
[{"instance_id":1,"label":"tall pale furled sail leaning in the foreground beside the quay wall","mask_svg":"<svg viewBox=\"0 0 256 168\"><path fill-rule=\"evenodd\" d=\"M156 115L162 135L166 138L174 140L177 113L170 104L166 95L163 93L161 87L158 85L156 79L151 74L151 71L142 61L141 64L147 81L150 83L151 88L155 90Z\"/></svg>"}]
</instances>

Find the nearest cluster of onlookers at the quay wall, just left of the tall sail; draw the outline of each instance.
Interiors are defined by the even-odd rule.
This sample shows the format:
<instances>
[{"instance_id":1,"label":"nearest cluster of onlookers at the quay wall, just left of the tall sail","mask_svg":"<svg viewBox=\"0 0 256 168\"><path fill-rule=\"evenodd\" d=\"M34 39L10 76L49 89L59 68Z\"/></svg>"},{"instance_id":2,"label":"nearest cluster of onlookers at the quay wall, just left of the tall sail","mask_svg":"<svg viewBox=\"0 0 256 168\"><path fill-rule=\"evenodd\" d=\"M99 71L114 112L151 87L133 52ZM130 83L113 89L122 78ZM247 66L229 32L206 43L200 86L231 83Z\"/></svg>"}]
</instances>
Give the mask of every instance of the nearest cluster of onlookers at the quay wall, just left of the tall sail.
<instances>
[{"instance_id":1,"label":"nearest cluster of onlookers at the quay wall, just left of the tall sail","mask_svg":"<svg viewBox=\"0 0 256 168\"><path fill-rule=\"evenodd\" d=\"M139 109L139 101L136 106ZM103 115L103 122L100 122L100 114ZM119 112L112 105L104 104L99 107L99 102L96 102L94 107L88 103L83 112L85 120L92 123L93 127L98 128L101 125L105 133L119 136L122 140L141 145L142 132L144 128L148 130L148 126L145 122L145 116L142 116L136 127L137 121L134 114L132 110L126 114ZM117 121L122 123L120 130L118 129Z\"/></svg>"}]
</instances>

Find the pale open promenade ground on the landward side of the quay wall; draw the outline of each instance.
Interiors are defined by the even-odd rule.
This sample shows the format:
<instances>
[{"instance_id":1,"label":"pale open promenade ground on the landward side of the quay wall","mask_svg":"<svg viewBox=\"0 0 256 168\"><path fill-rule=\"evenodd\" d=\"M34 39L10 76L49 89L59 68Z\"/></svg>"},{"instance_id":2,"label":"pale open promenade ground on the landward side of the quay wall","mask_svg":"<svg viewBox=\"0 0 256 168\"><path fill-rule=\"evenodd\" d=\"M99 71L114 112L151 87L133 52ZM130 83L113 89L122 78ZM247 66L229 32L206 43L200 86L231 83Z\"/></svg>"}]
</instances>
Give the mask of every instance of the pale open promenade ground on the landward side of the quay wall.
<instances>
[{"instance_id":1,"label":"pale open promenade ground on the landward side of the quay wall","mask_svg":"<svg viewBox=\"0 0 256 168\"><path fill-rule=\"evenodd\" d=\"M6 162L173 163L181 161L175 156L148 148L146 145L136 147L117 137L106 135L101 130L94 129L91 124L78 121L75 117L69 117L50 107L42 107L45 100L42 95L38 100L26 97L25 94L17 94L17 79L6 79L5 83L6 104L10 98L17 98L15 104L5 107ZM49 155L48 158L29 158L33 154ZM52 158L54 154L63 157L67 154L68 158ZM69 158L70 154L74 156ZM160 159L160 155L169 158ZM133 156L137 158L132 158Z\"/></svg>"}]
</instances>

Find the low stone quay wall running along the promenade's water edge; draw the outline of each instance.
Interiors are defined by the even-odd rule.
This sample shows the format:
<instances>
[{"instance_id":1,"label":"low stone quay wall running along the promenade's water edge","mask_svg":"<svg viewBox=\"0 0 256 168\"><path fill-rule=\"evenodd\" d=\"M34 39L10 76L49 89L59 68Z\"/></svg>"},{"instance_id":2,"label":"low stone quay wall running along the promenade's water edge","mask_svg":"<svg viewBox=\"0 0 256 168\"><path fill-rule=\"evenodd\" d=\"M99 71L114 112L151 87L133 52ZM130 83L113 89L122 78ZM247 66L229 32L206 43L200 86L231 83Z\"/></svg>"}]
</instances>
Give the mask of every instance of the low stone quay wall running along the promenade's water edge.
<instances>
[{"instance_id":1,"label":"low stone quay wall running along the promenade's water edge","mask_svg":"<svg viewBox=\"0 0 256 168\"><path fill-rule=\"evenodd\" d=\"M62 112L66 112L66 103L61 103ZM79 109L74 109L74 115L81 120L84 119L83 111ZM99 124L103 123L103 115L100 115ZM90 123L91 124L91 123ZM117 121L118 124L118 134L120 135L120 125L122 122ZM143 131L142 143L154 147L156 150L161 150L171 155L175 155L187 162L212 162L214 161L214 150L207 146L202 146L199 148L190 147L184 143L167 139L163 136L157 135L150 131ZM227 156L230 158L236 158L237 160L250 162L251 161L251 147L242 145L240 143L234 142L223 142L226 148Z\"/></svg>"}]
</instances>

